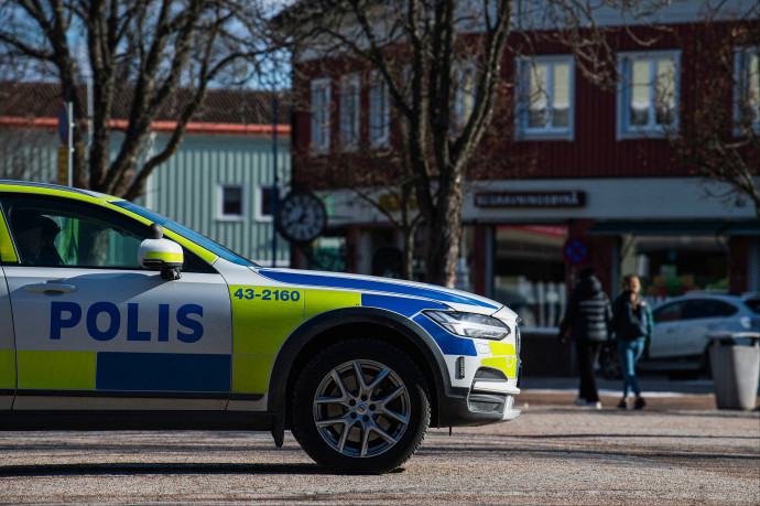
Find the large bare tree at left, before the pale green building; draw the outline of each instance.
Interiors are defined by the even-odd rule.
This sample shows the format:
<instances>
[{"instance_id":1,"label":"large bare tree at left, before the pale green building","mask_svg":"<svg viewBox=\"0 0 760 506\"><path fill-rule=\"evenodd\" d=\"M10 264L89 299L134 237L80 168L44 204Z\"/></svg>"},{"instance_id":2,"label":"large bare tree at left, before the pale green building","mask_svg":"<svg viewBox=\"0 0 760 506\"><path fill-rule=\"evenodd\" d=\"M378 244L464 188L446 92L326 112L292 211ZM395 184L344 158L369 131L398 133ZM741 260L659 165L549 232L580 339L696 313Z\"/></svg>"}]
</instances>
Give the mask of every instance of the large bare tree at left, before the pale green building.
<instances>
[{"instance_id":1,"label":"large bare tree at left, before the pale green building","mask_svg":"<svg viewBox=\"0 0 760 506\"><path fill-rule=\"evenodd\" d=\"M89 74L91 138L86 157L74 157L74 185L127 198L140 195L151 171L176 151L209 84L248 80L269 49L259 1L0 0L0 61L24 65L15 78L59 82L74 105L75 143L87 132L78 90ZM128 122L111 159L116 105L126 106ZM161 111L176 127L165 148L138 166Z\"/></svg>"}]
</instances>

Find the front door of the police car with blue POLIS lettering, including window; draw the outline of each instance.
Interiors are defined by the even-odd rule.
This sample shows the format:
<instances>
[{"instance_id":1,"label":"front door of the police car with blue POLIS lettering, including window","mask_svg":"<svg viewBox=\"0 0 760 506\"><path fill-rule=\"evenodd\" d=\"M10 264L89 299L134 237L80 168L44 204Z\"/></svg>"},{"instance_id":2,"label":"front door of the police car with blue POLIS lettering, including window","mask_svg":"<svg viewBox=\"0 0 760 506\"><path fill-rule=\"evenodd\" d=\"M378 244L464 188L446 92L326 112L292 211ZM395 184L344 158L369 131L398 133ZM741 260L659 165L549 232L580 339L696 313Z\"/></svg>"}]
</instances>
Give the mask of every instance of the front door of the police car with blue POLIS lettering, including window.
<instances>
[{"instance_id":1,"label":"front door of the police car with blue POLIS lettering, including window","mask_svg":"<svg viewBox=\"0 0 760 506\"><path fill-rule=\"evenodd\" d=\"M185 250L178 280L140 268L148 227L102 206L19 195L2 207L19 257L4 266L13 409L226 408L231 308L210 266ZM56 255L36 262L22 244L31 213L58 229Z\"/></svg>"}]
</instances>

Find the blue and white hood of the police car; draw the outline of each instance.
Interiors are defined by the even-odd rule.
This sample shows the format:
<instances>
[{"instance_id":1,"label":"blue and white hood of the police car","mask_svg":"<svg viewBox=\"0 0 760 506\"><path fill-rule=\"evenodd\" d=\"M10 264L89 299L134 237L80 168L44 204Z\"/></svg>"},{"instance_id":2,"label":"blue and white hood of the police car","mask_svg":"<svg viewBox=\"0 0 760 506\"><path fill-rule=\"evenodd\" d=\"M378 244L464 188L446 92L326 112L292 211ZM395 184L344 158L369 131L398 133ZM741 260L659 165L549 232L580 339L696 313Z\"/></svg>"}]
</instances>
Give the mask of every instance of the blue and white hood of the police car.
<instances>
[{"instance_id":1,"label":"blue and white hood of the police car","mask_svg":"<svg viewBox=\"0 0 760 506\"><path fill-rule=\"evenodd\" d=\"M453 309L489 315L503 308L503 304L485 297L415 281L297 269L251 268L251 270L259 276L281 283L422 298L443 302Z\"/></svg>"}]
</instances>

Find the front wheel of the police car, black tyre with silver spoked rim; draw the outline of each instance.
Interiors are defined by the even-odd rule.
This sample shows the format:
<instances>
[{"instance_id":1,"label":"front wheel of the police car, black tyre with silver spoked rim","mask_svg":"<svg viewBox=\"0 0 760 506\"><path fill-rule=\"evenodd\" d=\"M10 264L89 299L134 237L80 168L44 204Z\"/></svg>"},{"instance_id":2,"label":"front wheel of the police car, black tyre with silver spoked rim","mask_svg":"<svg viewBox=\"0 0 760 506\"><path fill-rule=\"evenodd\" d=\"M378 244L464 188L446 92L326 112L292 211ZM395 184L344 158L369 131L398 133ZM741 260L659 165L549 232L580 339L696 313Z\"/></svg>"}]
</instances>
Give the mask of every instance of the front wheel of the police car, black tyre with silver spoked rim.
<instances>
[{"instance_id":1,"label":"front wheel of the police car, black tyre with silver spoked rim","mask_svg":"<svg viewBox=\"0 0 760 506\"><path fill-rule=\"evenodd\" d=\"M293 435L315 462L341 474L380 474L422 444L430 394L404 352L355 338L308 362L293 390L292 412Z\"/></svg>"}]
</instances>

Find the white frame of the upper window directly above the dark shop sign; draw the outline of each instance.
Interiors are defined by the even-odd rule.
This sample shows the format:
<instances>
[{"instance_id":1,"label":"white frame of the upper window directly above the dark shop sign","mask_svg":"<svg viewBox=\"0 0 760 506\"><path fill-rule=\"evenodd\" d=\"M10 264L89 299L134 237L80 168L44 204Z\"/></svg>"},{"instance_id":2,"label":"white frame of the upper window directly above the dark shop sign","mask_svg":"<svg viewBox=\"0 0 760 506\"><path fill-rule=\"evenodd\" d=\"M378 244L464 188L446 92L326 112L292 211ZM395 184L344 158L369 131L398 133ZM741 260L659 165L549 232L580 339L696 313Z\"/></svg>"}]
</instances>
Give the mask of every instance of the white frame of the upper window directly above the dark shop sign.
<instances>
[{"instance_id":1,"label":"white frame of the upper window directly above the dark shop sign","mask_svg":"<svg viewBox=\"0 0 760 506\"><path fill-rule=\"evenodd\" d=\"M554 104L554 67L557 64L568 65L568 96L569 105L567 110L567 126L555 127L553 120L544 127L530 127L529 122L529 94L530 77L536 64L547 65L546 74L546 103ZM515 90L515 139L517 140L575 140L575 61L571 54L562 55L540 55L531 58L519 58L517 61L517 87ZM549 115L553 118L552 108L547 107Z\"/></svg>"}]
</instances>

